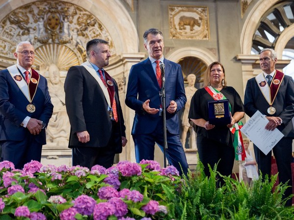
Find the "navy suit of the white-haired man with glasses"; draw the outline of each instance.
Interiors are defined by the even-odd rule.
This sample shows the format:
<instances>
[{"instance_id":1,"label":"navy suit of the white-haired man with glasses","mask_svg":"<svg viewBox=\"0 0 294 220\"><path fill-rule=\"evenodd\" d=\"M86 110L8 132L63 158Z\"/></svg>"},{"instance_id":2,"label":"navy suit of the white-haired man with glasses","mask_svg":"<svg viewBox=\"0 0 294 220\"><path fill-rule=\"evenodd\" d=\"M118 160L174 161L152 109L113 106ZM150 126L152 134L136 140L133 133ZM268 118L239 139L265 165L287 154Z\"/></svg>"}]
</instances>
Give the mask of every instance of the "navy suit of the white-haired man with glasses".
<instances>
[{"instance_id":1,"label":"navy suit of the white-haired man with glasses","mask_svg":"<svg viewBox=\"0 0 294 220\"><path fill-rule=\"evenodd\" d=\"M21 73L20 73L21 74ZM22 79L24 80L24 78ZM47 80L40 75L38 87L32 104L36 110L26 110L29 104L7 69L0 71L0 143L3 160L9 160L22 169L30 160L41 160L42 145L46 144L46 131L30 134L21 126L26 116L36 118L48 125L53 112Z\"/></svg>"}]
</instances>

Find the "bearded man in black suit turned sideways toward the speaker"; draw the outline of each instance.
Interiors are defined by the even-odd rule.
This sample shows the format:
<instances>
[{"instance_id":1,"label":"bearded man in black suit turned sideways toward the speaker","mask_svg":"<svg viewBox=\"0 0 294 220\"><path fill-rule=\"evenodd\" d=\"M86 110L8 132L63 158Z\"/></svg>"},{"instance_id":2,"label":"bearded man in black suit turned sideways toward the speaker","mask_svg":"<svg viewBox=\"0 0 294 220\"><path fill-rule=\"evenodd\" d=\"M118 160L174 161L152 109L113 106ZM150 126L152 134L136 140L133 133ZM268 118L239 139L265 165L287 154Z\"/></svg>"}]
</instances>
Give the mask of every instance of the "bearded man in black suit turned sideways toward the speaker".
<instances>
[{"instance_id":1,"label":"bearded man in black suit turned sideways toward the speaker","mask_svg":"<svg viewBox=\"0 0 294 220\"><path fill-rule=\"evenodd\" d=\"M72 66L64 84L71 124L69 148L73 166L109 168L127 142L118 85L103 69L111 56L108 42L91 40L86 50L88 61Z\"/></svg>"}]
</instances>

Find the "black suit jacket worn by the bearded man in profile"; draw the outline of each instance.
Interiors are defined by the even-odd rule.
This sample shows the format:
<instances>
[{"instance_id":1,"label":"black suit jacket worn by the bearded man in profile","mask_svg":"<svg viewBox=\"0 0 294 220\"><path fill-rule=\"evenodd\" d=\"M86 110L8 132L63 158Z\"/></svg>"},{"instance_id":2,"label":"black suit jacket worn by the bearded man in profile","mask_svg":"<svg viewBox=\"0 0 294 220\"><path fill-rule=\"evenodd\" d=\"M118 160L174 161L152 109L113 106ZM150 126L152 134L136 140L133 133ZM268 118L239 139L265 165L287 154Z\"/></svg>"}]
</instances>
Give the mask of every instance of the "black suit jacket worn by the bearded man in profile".
<instances>
[{"instance_id":1,"label":"black suit jacket worn by the bearded man in profile","mask_svg":"<svg viewBox=\"0 0 294 220\"><path fill-rule=\"evenodd\" d=\"M92 67L89 62L85 64ZM125 136L125 126L118 86L114 79L112 81L115 87L119 116L116 126L113 126L114 123L110 120L107 101L95 77L84 66L72 66L69 69L64 84L66 110L71 124L69 148L105 147L112 132L116 132L116 153L122 152L122 136ZM81 131L89 132L89 142L81 143L78 141L76 132Z\"/></svg>"}]
</instances>

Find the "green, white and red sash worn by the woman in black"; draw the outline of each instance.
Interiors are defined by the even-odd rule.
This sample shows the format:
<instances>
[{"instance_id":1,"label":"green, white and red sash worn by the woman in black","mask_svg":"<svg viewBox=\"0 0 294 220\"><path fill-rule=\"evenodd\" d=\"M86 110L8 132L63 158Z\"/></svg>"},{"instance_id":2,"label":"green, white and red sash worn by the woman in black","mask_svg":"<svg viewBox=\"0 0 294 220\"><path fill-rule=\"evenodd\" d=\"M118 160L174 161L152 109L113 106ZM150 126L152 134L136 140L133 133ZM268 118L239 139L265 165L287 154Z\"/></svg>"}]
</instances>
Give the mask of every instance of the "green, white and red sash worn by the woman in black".
<instances>
[{"instance_id":1,"label":"green, white and red sash worn by the woman in black","mask_svg":"<svg viewBox=\"0 0 294 220\"><path fill-rule=\"evenodd\" d=\"M224 94L222 94L217 89L213 88L212 86L204 87L205 90L211 95L211 97L214 98L214 100L223 100L227 99ZM232 112L231 104L229 103L229 109L230 112ZM243 161L245 160L246 153L243 145L243 139L240 129L242 128L243 123L240 121L238 123L235 123L232 128L230 128L230 131L234 134L234 142L233 146L235 149L235 159L237 161ZM238 132L236 132L238 131Z\"/></svg>"}]
</instances>

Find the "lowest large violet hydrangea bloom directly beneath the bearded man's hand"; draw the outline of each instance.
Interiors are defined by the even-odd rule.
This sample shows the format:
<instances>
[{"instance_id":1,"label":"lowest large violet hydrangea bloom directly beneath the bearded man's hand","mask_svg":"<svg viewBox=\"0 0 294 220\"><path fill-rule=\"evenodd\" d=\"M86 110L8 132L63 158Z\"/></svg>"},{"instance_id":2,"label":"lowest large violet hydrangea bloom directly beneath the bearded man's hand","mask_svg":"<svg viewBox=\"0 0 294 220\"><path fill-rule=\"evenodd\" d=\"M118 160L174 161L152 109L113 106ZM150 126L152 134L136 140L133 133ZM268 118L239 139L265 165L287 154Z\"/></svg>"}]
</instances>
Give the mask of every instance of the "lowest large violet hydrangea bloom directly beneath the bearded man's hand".
<instances>
[{"instance_id":1,"label":"lowest large violet hydrangea bloom directly beneath the bearded man's hand","mask_svg":"<svg viewBox=\"0 0 294 220\"><path fill-rule=\"evenodd\" d=\"M96 201L87 195L81 195L73 200L73 208L82 215L90 216L93 213Z\"/></svg>"}]
</instances>

